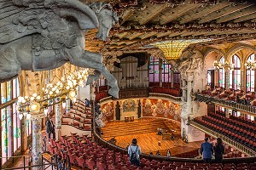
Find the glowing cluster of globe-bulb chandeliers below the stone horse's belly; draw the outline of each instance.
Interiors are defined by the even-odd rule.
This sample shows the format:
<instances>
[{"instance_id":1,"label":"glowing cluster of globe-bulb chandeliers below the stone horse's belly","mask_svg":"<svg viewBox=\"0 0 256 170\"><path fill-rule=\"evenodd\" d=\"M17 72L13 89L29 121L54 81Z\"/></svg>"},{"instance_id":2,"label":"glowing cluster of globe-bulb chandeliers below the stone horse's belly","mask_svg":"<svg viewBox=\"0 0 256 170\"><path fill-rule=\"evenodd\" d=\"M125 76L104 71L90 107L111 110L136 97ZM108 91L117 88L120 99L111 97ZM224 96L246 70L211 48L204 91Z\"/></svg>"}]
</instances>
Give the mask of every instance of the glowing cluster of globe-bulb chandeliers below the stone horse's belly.
<instances>
[{"instance_id":1,"label":"glowing cluster of globe-bulb chandeliers below the stone horse's belly","mask_svg":"<svg viewBox=\"0 0 256 170\"><path fill-rule=\"evenodd\" d=\"M66 107L65 101L72 99L73 102L77 98L77 90L79 86L84 86L84 81L87 80L88 69L79 68L77 71L69 73L65 77L61 77L58 82L52 82L43 88L43 95L32 94L32 96L19 97L17 102L17 112L20 120L23 116L30 119L31 113L39 113L44 110L47 115L48 107L62 102L62 107ZM57 78L57 77L56 77Z\"/></svg>"}]
</instances>

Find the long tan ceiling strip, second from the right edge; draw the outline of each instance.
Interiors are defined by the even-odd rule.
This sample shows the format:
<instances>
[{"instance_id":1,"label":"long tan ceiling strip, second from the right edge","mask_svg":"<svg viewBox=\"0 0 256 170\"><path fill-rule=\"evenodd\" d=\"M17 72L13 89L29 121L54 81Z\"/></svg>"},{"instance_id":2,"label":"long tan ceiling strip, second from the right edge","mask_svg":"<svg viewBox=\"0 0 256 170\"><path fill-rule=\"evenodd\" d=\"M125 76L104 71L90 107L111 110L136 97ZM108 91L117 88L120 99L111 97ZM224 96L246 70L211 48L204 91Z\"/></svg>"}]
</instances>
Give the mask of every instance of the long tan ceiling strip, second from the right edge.
<instances>
[{"instance_id":1,"label":"long tan ceiling strip, second from the right edge","mask_svg":"<svg viewBox=\"0 0 256 170\"><path fill-rule=\"evenodd\" d=\"M223 17L225 15L228 15L228 14L232 14L232 13L235 13L243 8L247 8L247 7L250 7L254 5L253 3L246 3L246 4L242 4L242 5L237 5L237 6L229 6L229 7L226 7L226 8L223 8L223 10L221 11L216 11L214 13L211 13L211 14L208 14L206 17L203 17L199 23L202 24L202 23L205 23L205 22L208 22L208 21L211 21L211 20L217 20L218 18L220 17Z\"/></svg>"}]
</instances>

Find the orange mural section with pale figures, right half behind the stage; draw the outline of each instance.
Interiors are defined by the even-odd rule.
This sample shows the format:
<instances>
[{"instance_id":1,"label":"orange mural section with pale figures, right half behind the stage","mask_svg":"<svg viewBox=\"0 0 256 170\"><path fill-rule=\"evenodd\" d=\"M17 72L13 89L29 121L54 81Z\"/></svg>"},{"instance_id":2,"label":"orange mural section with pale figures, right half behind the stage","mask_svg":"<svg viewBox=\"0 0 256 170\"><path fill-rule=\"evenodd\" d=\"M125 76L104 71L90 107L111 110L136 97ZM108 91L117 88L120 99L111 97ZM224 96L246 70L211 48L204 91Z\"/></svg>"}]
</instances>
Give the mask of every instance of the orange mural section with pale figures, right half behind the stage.
<instances>
[{"instance_id":1,"label":"orange mural section with pale figures, right half behind the stage","mask_svg":"<svg viewBox=\"0 0 256 170\"><path fill-rule=\"evenodd\" d=\"M180 122L180 106L165 99L143 99L143 116L158 116Z\"/></svg>"}]
</instances>

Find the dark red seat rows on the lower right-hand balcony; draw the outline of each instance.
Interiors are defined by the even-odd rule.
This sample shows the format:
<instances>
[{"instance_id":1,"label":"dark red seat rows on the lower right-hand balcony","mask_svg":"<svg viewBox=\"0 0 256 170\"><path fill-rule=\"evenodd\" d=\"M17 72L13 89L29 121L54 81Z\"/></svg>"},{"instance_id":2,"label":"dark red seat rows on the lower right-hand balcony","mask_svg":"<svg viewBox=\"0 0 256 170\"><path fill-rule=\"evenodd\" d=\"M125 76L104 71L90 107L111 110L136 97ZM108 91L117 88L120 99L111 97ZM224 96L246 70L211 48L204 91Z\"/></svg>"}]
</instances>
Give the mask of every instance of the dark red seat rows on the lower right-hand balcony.
<instances>
[{"instance_id":1,"label":"dark red seat rows on the lower right-hand balcony","mask_svg":"<svg viewBox=\"0 0 256 170\"><path fill-rule=\"evenodd\" d=\"M208 116L196 117L194 121L256 150L255 122L235 116L226 118L216 113L210 113Z\"/></svg>"}]
</instances>

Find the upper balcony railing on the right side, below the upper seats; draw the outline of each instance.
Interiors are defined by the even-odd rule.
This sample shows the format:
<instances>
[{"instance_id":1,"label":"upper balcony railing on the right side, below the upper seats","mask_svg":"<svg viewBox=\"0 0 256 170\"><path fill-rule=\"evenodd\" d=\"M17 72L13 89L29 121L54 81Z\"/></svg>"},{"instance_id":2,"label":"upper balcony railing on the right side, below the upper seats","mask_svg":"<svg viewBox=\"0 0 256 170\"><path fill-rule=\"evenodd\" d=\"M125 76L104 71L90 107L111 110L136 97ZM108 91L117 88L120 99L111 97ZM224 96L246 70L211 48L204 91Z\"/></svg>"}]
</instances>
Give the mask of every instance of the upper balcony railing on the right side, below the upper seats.
<instances>
[{"instance_id":1,"label":"upper balcony railing on the right side, below the upper seats","mask_svg":"<svg viewBox=\"0 0 256 170\"><path fill-rule=\"evenodd\" d=\"M225 99L218 99L216 97L209 96L207 94L195 94L195 100L203 101L206 103L213 103L216 105L224 106L226 108L230 108L231 110L236 111L244 111L247 114L252 116L256 116L256 107L252 105L242 105L236 103L236 101L225 100Z\"/></svg>"}]
</instances>

